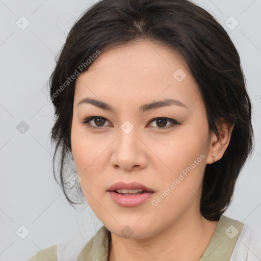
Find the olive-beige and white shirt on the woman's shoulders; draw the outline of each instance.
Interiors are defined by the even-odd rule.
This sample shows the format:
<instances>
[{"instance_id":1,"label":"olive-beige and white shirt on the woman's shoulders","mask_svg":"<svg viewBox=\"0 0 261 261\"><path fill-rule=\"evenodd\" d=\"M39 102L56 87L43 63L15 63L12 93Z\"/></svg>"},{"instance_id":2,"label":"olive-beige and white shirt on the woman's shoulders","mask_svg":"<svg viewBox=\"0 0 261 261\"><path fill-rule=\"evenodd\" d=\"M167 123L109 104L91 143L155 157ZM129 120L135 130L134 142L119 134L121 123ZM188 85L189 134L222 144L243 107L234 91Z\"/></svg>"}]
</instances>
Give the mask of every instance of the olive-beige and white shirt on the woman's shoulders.
<instances>
[{"instance_id":1,"label":"olive-beige and white shirt on the woman's shoulders","mask_svg":"<svg viewBox=\"0 0 261 261\"><path fill-rule=\"evenodd\" d=\"M103 225L84 245L76 258L66 256L70 261L108 261L111 232ZM71 249L73 253L73 249ZM74 253L75 254L75 253ZM65 261L58 245L37 252L28 261ZM231 218L222 215L205 251L198 261L260 261L261 239L253 230Z\"/></svg>"}]
</instances>

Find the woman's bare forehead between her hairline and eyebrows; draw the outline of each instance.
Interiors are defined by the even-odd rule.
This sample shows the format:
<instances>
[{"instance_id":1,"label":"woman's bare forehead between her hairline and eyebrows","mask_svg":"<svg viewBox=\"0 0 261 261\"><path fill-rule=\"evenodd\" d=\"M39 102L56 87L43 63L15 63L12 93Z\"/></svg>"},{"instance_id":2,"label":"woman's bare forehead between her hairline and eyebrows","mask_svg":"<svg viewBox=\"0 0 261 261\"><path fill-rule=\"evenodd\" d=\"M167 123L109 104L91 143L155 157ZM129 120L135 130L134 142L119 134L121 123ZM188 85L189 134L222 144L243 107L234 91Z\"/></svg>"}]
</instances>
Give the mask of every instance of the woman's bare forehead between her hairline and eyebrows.
<instances>
[{"instance_id":1,"label":"woman's bare forehead between her hairline and eyebrows","mask_svg":"<svg viewBox=\"0 0 261 261\"><path fill-rule=\"evenodd\" d=\"M198 102L199 89L187 67L179 53L155 42L113 46L77 77L75 97L114 96L136 101L171 97L184 103Z\"/></svg>"}]
</instances>

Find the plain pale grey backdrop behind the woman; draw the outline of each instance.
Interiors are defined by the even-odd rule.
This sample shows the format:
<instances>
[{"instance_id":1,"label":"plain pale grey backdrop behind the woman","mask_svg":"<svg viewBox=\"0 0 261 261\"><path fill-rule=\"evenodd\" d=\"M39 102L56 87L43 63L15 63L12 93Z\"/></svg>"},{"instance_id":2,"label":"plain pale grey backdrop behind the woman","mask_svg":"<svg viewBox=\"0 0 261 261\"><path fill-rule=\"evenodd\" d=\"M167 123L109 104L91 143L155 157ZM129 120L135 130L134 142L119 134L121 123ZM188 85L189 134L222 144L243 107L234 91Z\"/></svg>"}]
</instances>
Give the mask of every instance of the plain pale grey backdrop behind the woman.
<instances>
[{"instance_id":1,"label":"plain pale grey backdrop behind the woman","mask_svg":"<svg viewBox=\"0 0 261 261\"><path fill-rule=\"evenodd\" d=\"M255 150L225 215L261 234L261 1L194 2L216 17L241 56L253 103ZM0 0L2 261L27 260L40 249L75 237L87 242L102 225L87 204L75 211L54 180L54 108L45 88L71 25L93 3Z\"/></svg>"}]
</instances>

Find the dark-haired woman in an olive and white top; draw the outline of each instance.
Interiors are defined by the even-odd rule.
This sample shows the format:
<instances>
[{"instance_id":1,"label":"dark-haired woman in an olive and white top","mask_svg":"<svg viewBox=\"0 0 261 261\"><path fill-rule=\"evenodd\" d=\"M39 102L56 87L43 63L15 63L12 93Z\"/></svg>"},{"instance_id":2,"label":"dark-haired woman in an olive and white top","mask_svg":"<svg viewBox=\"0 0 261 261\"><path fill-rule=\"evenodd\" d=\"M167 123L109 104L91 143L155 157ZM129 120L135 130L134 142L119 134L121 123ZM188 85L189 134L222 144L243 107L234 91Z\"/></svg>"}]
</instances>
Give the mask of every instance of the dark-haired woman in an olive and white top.
<instances>
[{"instance_id":1,"label":"dark-haired woman in an olive and white top","mask_svg":"<svg viewBox=\"0 0 261 261\"><path fill-rule=\"evenodd\" d=\"M253 131L239 54L211 14L184 0L96 3L67 37L49 99L61 187L73 205L71 156L104 224L77 261L261 258L250 228L223 215ZM57 245L43 252L30 261L60 261Z\"/></svg>"}]
</instances>

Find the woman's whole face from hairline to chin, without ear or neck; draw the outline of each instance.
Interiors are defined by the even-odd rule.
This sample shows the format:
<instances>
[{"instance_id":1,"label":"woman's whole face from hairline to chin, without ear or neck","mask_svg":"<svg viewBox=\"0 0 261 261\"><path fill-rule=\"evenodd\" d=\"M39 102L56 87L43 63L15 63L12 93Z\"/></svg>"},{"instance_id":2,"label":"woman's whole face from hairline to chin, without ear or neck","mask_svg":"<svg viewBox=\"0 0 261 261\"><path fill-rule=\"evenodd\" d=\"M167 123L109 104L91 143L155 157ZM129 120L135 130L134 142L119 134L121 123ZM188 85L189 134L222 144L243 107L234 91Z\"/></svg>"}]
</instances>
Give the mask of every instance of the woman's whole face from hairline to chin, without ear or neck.
<instances>
[{"instance_id":1,"label":"woman's whole face from hairline to chin, without ear or neck","mask_svg":"<svg viewBox=\"0 0 261 261\"><path fill-rule=\"evenodd\" d=\"M139 41L103 51L76 79L73 159L88 204L120 237L147 238L200 214L211 137L186 68L170 48ZM140 190L112 192L119 181Z\"/></svg>"}]
</instances>

